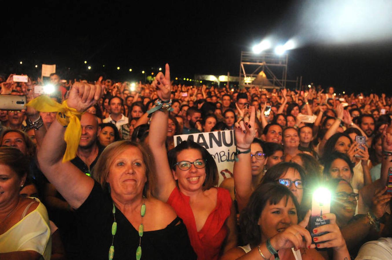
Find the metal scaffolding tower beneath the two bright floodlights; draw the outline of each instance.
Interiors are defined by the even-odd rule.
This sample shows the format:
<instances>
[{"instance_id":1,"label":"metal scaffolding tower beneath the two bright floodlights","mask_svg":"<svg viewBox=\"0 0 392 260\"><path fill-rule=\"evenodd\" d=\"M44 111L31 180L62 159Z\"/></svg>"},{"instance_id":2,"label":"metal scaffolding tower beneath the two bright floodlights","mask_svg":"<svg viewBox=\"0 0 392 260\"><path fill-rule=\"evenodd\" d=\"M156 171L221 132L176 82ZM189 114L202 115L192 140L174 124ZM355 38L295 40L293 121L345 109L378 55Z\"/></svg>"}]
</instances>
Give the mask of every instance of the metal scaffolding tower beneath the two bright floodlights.
<instances>
[{"instance_id":1,"label":"metal scaffolding tower beneath the two bright floodlights","mask_svg":"<svg viewBox=\"0 0 392 260\"><path fill-rule=\"evenodd\" d=\"M285 88L287 82L287 63L289 54L278 55L274 52L242 51L240 64L240 87ZM277 76L279 75L279 76ZM281 75L281 76L280 76Z\"/></svg>"}]
</instances>

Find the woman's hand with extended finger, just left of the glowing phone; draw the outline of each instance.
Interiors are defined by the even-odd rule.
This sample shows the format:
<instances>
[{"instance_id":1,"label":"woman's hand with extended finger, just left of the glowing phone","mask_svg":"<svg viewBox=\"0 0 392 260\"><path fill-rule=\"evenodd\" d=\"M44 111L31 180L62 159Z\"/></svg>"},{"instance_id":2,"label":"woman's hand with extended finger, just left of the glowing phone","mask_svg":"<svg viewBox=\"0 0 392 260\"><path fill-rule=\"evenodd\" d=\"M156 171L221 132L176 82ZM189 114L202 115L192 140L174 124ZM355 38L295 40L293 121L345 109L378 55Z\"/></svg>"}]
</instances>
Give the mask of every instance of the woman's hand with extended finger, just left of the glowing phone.
<instances>
[{"instance_id":1,"label":"woman's hand with extended finger, just left of the glowing phone","mask_svg":"<svg viewBox=\"0 0 392 260\"><path fill-rule=\"evenodd\" d=\"M298 225L289 226L285 229L285 231L272 237L270 240L271 246L274 247L275 250L291 247L294 247L295 249L316 247L312 244L312 237L310 236L309 231L305 228L309 223L310 215L311 213L309 210L305 215L305 218L303 218Z\"/></svg>"}]
</instances>

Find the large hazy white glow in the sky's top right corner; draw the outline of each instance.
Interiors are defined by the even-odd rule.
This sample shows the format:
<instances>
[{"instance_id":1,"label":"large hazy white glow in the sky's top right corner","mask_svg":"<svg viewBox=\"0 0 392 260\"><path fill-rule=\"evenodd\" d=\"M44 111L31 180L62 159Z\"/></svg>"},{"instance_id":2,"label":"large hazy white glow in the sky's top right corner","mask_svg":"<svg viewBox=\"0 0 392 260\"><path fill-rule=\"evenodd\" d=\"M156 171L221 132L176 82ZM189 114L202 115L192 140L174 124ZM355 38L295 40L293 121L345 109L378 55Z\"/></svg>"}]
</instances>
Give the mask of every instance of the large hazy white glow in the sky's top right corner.
<instances>
[{"instance_id":1,"label":"large hazy white glow in the sky's top right corner","mask_svg":"<svg viewBox=\"0 0 392 260\"><path fill-rule=\"evenodd\" d=\"M299 38L325 44L374 43L392 39L392 1L301 1Z\"/></svg>"}]
</instances>

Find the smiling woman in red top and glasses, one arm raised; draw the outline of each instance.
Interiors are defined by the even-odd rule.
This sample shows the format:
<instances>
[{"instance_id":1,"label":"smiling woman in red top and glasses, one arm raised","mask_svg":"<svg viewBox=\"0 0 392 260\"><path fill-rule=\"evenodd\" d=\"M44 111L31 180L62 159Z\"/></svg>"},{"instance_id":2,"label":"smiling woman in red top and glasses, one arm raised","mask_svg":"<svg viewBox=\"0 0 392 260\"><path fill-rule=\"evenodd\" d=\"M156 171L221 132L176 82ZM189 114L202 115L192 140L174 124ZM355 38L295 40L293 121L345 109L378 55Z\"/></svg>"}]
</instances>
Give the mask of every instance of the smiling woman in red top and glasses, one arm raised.
<instances>
[{"instance_id":1,"label":"smiling woman in red top and glasses, one arm raised","mask_svg":"<svg viewBox=\"0 0 392 260\"><path fill-rule=\"evenodd\" d=\"M168 101L170 76L160 72L152 83L158 96ZM235 209L229 191L215 188L218 169L205 148L183 141L169 151L165 147L167 110L152 114L149 146L156 164L155 195L176 211L187 227L198 259L218 259L222 252L236 246Z\"/></svg>"}]
</instances>

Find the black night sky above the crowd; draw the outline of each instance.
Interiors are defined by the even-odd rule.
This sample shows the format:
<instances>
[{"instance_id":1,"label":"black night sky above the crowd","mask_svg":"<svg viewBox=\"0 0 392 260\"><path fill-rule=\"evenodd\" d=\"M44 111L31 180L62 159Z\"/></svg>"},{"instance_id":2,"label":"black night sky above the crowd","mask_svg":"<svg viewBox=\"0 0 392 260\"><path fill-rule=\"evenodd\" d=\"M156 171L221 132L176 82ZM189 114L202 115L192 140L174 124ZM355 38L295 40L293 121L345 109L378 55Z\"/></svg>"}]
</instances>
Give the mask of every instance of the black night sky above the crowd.
<instances>
[{"instance_id":1,"label":"black night sky above the crowd","mask_svg":"<svg viewBox=\"0 0 392 260\"><path fill-rule=\"evenodd\" d=\"M173 77L228 71L238 76L241 51L270 33L286 39L296 34L292 19L298 8L298 1L8 2L0 72L32 74L35 64L56 63L63 72L70 68L69 76L135 80L141 70L150 73L168 62ZM313 43L290 51L288 78L302 75L304 84L392 94L391 60L388 42Z\"/></svg>"}]
</instances>

